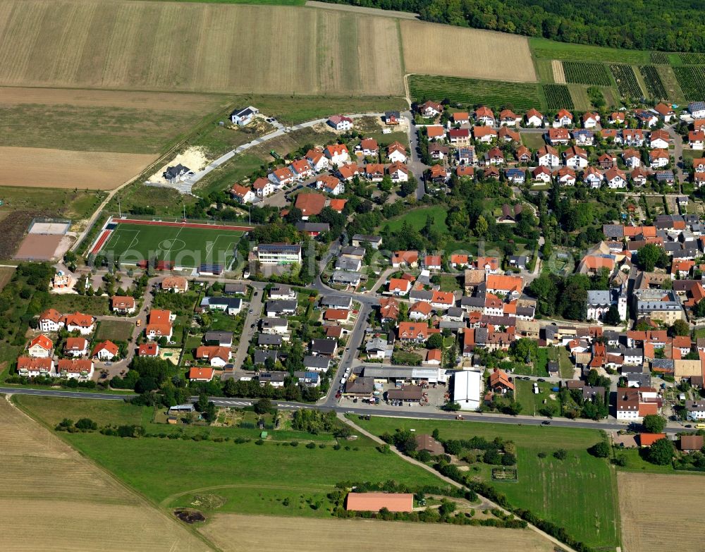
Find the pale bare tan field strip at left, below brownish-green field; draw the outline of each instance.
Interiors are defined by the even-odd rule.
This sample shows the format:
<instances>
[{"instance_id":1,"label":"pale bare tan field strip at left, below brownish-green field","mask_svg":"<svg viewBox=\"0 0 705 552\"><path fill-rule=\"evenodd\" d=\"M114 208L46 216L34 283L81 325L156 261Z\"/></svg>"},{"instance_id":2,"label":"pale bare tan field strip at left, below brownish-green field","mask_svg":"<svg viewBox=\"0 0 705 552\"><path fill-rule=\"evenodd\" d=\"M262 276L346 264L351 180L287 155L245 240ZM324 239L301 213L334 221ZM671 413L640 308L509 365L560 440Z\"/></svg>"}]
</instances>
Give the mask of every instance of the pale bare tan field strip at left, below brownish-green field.
<instances>
[{"instance_id":1,"label":"pale bare tan field strip at left, below brownish-green field","mask_svg":"<svg viewBox=\"0 0 705 552\"><path fill-rule=\"evenodd\" d=\"M2 186L112 190L139 174L156 155L0 147Z\"/></svg>"}]
</instances>

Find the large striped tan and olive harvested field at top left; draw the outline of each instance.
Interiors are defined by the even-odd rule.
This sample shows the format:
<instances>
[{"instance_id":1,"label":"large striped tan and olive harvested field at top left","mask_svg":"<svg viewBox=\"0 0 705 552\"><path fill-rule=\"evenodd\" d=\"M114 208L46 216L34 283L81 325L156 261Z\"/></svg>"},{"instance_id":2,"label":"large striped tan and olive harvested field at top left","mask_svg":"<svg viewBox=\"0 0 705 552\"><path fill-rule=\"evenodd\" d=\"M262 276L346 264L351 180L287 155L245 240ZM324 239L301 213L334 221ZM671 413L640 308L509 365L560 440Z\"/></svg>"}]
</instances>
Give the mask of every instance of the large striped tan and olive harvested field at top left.
<instances>
[{"instance_id":1,"label":"large striped tan and olive harvested field at top left","mask_svg":"<svg viewBox=\"0 0 705 552\"><path fill-rule=\"evenodd\" d=\"M0 85L403 93L395 19L314 8L4 0L0 51Z\"/></svg>"}]
</instances>

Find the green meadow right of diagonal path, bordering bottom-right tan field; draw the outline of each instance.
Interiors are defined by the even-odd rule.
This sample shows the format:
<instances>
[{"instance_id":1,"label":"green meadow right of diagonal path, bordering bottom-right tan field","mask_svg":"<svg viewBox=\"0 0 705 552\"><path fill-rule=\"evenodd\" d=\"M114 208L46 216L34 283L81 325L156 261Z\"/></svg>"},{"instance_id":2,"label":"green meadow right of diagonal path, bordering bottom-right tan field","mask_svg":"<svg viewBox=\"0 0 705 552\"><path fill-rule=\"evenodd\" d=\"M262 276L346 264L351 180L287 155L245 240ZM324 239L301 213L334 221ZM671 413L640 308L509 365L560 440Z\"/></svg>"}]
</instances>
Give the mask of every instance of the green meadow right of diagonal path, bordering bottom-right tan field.
<instances>
[{"instance_id":1,"label":"green meadow right of diagonal path, bordering bottom-right tan field","mask_svg":"<svg viewBox=\"0 0 705 552\"><path fill-rule=\"evenodd\" d=\"M587 453L587 448L601 439L599 431L384 417L369 421L354 419L376 435L393 433L397 428L430 434L437 428L441 438L510 439L517 445L519 481L492 484L505 493L512 505L528 508L565 527L569 534L589 546L613 549L619 544L615 473L606 460ZM568 458L553 458L558 448L567 450ZM546 453L546 457L539 458L539 453Z\"/></svg>"}]
</instances>

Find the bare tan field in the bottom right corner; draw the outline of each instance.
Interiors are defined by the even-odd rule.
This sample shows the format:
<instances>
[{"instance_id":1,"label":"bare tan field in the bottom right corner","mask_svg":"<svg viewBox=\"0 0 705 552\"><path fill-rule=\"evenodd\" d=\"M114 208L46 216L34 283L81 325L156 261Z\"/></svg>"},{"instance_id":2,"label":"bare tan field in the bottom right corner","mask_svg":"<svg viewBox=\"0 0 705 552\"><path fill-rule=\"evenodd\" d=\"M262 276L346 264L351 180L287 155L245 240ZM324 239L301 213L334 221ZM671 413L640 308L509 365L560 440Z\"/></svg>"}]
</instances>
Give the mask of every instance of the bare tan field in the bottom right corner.
<instances>
[{"instance_id":1,"label":"bare tan field in the bottom right corner","mask_svg":"<svg viewBox=\"0 0 705 552\"><path fill-rule=\"evenodd\" d=\"M702 475L618 473L624 552L705 550Z\"/></svg>"}]
</instances>

